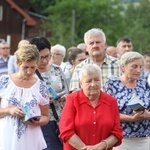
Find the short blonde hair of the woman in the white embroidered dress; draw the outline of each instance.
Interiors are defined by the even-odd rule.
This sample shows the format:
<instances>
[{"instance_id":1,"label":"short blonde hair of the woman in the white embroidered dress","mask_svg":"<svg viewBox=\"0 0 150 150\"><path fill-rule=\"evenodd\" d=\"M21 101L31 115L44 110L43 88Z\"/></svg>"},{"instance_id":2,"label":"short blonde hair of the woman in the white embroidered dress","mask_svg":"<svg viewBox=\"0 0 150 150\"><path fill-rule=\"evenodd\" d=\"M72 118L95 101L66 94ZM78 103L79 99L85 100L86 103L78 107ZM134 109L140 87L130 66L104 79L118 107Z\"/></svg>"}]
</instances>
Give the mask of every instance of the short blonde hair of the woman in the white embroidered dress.
<instances>
[{"instance_id":1,"label":"short blonde hair of the woman in the white embroidered dress","mask_svg":"<svg viewBox=\"0 0 150 150\"><path fill-rule=\"evenodd\" d=\"M18 62L39 61L40 59L37 47L29 43L21 45L15 52L15 55Z\"/></svg>"}]
</instances>

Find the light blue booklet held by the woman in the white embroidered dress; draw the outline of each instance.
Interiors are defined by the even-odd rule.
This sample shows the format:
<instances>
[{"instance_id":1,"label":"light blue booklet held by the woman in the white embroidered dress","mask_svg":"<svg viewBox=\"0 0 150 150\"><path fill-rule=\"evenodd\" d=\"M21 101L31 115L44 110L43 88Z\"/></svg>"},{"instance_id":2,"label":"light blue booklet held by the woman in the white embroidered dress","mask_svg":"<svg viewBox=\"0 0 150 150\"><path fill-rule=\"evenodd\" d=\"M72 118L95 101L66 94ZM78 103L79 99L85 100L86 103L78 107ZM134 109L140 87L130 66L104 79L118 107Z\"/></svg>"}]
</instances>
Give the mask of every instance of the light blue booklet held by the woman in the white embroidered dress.
<instances>
[{"instance_id":1,"label":"light blue booklet held by the woman in the white embroidered dress","mask_svg":"<svg viewBox=\"0 0 150 150\"><path fill-rule=\"evenodd\" d=\"M41 115L34 115L33 113L31 113L29 106L22 107L22 111L26 114L23 118L23 121L29 121L30 119L36 120L41 117Z\"/></svg>"}]
</instances>

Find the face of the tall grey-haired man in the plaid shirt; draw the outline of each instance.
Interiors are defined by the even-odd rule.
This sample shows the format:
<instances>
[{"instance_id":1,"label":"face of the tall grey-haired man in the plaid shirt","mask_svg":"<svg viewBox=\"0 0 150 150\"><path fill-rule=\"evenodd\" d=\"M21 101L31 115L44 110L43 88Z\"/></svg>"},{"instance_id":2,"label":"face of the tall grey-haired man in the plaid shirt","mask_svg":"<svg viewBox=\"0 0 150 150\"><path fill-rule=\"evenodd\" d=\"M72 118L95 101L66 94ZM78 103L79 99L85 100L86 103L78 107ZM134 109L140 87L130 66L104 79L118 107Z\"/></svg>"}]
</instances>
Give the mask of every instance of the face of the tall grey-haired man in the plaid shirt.
<instances>
[{"instance_id":1,"label":"face of the tall grey-haired man in the plaid shirt","mask_svg":"<svg viewBox=\"0 0 150 150\"><path fill-rule=\"evenodd\" d=\"M90 57L99 57L105 54L107 44L101 35L93 35L87 39L87 52Z\"/></svg>"}]
</instances>

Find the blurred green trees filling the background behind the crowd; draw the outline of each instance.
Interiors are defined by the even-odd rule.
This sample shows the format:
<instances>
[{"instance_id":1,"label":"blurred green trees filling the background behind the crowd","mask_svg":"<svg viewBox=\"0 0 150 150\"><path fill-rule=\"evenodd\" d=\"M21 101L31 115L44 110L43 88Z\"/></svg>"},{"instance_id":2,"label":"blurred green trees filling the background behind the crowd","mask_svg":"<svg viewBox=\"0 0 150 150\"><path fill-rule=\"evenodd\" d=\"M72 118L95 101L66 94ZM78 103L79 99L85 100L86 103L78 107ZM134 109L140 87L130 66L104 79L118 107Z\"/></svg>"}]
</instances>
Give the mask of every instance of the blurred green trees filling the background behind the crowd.
<instances>
[{"instance_id":1,"label":"blurred green trees filling the background behind the crowd","mask_svg":"<svg viewBox=\"0 0 150 150\"><path fill-rule=\"evenodd\" d=\"M84 33L101 28L108 45L116 45L120 37L129 37L134 50L150 49L150 1L140 0L30 0L37 11L48 16L43 27L51 32L50 41L66 48L83 41ZM134 3L132 3L134 2ZM123 6L128 6L126 7Z\"/></svg>"}]
</instances>

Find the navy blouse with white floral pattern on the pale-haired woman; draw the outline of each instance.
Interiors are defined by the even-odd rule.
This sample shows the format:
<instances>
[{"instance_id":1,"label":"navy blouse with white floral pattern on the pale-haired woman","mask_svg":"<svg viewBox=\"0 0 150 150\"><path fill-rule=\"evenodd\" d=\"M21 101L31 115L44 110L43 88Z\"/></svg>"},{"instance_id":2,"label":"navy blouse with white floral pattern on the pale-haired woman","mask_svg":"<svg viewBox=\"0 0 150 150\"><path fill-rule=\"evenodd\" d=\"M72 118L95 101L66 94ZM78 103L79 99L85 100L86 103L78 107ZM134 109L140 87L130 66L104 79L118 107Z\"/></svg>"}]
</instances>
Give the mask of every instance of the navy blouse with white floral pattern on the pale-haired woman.
<instances>
[{"instance_id":1,"label":"navy blouse with white floral pattern on the pale-haired woman","mask_svg":"<svg viewBox=\"0 0 150 150\"><path fill-rule=\"evenodd\" d=\"M132 109L127 103L136 94L150 110L150 91L146 89L146 83L142 79L137 80L136 88L127 88L119 78L113 77L106 82L105 92L116 98L121 114L133 115ZM137 122L121 123L124 137L147 137L150 135L150 121L148 119Z\"/></svg>"}]
</instances>

